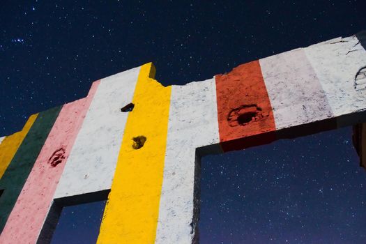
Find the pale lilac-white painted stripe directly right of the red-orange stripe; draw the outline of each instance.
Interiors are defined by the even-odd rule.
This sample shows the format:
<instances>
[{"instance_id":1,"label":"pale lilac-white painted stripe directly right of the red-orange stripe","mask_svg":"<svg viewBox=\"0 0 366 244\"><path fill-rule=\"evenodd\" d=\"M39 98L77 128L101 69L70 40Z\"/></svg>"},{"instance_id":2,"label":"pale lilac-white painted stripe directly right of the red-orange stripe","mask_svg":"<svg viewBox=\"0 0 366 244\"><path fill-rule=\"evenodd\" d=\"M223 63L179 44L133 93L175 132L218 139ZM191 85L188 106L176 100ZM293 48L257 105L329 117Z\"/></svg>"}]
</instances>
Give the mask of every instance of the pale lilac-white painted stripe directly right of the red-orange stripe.
<instances>
[{"instance_id":1,"label":"pale lilac-white painted stripe directly right of the red-orange stripe","mask_svg":"<svg viewBox=\"0 0 366 244\"><path fill-rule=\"evenodd\" d=\"M276 130L332 116L326 95L303 49L259 60Z\"/></svg>"}]
</instances>

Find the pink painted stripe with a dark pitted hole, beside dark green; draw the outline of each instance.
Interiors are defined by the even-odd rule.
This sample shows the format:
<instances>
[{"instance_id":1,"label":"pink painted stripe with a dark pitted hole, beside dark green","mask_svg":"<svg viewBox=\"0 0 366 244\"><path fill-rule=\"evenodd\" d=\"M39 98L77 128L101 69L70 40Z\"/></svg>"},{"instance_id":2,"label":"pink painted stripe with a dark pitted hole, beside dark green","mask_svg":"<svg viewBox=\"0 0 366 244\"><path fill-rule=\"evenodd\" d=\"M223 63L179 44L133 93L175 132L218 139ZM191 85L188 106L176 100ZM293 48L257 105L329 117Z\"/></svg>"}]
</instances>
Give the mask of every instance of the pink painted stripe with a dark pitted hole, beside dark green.
<instances>
[{"instance_id":1,"label":"pink painted stripe with a dark pitted hole, beside dark green","mask_svg":"<svg viewBox=\"0 0 366 244\"><path fill-rule=\"evenodd\" d=\"M10 213L0 236L0 243L36 243L52 204L63 167L66 165L77 133L82 128L84 117L99 83L100 81L92 84L86 98L63 105ZM59 164L57 164L58 155L64 157Z\"/></svg>"}]
</instances>

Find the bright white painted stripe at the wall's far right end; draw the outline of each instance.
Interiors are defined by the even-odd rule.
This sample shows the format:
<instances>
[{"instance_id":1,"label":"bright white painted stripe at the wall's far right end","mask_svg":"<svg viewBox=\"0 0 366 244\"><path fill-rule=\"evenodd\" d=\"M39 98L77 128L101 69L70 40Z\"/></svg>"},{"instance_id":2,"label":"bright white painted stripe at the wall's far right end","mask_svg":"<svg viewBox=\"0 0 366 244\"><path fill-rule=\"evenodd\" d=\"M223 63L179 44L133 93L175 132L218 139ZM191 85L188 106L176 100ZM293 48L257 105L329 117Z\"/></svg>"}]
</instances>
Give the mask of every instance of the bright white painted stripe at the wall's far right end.
<instances>
[{"instance_id":1,"label":"bright white painted stripe at the wall's far right end","mask_svg":"<svg viewBox=\"0 0 366 244\"><path fill-rule=\"evenodd\" d=\"M366 109L366 90L360 86L355 89L356 74L366 66L366 52L356 36L306 47L305 54L317 73L334 116Z\"/></svg>"}]
</instances>

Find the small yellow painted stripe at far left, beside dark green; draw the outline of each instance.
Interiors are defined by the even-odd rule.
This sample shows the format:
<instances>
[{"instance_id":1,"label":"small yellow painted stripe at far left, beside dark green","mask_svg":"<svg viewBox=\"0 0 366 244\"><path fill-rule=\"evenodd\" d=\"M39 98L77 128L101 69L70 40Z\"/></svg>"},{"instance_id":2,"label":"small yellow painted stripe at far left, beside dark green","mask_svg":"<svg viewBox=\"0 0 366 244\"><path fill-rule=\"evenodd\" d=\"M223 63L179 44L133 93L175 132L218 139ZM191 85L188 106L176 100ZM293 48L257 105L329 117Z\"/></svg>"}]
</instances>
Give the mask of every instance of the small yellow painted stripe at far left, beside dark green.
<instances>
[{"instance_id":1,"label":"small yellow painted stripe at far left, beside dark green","mask_svg":"<svg viewBox=\"0 0 366 244\"><path fill-rule=\"evenodd\" d=\"M20 144L22 144L24 137L29 132L29 129L36 121L38 114L33 114L26 121L23 129L20 132L16 132L13 135L9 135L3 139L0 144L0 178L3 177L3 173L8 168L11 160L17 152Z\"/></svg>"}]
</instances>

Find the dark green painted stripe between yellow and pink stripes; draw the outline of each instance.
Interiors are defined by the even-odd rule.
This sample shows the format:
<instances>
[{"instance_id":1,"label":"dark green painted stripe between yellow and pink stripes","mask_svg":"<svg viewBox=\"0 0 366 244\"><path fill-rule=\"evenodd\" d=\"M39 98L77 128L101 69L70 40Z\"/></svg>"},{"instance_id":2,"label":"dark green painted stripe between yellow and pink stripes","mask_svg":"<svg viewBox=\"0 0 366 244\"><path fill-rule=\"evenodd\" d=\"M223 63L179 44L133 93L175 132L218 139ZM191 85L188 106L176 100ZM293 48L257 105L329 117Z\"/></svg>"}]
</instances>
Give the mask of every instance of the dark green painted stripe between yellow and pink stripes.
<instances>
[{"instance_id":1,"label":"dark green painted stripe between yellow and pink stripes","mask_svg":"<svg viewBox=\"0 0 366 244\"><path fill-rule=\"evenodd\" d=\"M8 216L13 210L17 197L22 191L26 178L36 162L61 107L48 109L38 115L0 180L0 190L4 190L0 197L0 231L3 230Z\"/></svg>"}]
</instances>

